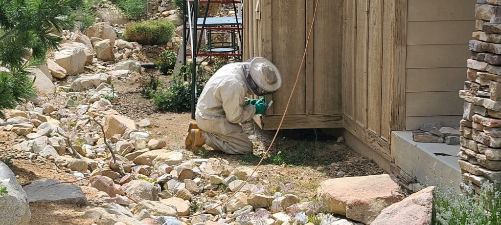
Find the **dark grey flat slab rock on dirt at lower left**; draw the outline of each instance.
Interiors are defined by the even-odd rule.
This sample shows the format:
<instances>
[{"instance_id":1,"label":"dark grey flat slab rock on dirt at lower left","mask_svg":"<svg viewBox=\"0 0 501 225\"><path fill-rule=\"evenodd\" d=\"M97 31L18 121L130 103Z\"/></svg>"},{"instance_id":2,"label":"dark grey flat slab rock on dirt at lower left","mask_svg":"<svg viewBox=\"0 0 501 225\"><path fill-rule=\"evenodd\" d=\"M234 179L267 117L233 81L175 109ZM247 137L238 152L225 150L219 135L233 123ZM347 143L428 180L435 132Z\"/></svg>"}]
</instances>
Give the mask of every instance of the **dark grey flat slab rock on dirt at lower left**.
<instances>
[{"instance_id":1,"label":"dark grey flat slab rock on dirt at lower left","mask_svg":"<svg viewBox=\"0 0 501 225\"><path fill-rule=\"evenodd\" d=\"M28 201L54 202L58 204L89 205L80 187L62 184L56 179L39 179L24 187Z\"/></svg>"}]
</instances>

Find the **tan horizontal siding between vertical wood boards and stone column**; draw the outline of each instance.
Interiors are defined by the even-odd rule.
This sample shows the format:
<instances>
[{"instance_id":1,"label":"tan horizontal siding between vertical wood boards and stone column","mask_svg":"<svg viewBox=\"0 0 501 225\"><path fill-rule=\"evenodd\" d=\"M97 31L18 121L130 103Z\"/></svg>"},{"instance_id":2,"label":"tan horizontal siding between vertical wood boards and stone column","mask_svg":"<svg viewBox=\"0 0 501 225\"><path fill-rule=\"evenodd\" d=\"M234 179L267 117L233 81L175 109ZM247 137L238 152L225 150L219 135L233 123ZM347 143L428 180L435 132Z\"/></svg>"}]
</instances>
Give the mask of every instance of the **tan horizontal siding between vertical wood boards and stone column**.
<instances>
[{"instance_id":1,"label":"tan horizontal siding between vertical wood boards and stone column","mask_svg":"<svg viewBox=\"0 0 501 225\"><path fill-rule=\"evenodd\" d=\"M475 0L407 0L405 128L458 125Z\"/></svg>"}]
</instances>

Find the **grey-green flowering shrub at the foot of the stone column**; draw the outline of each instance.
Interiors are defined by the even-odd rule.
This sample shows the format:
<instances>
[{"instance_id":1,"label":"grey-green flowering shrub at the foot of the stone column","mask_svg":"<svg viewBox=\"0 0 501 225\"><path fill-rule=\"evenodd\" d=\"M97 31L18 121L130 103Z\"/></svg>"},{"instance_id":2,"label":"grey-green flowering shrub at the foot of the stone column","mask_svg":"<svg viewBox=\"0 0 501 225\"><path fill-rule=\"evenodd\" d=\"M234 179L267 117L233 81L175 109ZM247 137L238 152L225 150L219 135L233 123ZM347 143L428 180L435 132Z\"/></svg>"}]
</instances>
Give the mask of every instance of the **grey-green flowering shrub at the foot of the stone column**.
<instances>
[{"instance_id":1,"label":"grey-green flowering shrub at the foot of the stone column","mask_svg":"<svg viewBox=\"0 0 501 225\"><path fill-rule=\"evenodd\" d=\"M438 183L433 199L434 224L501 224L501 190L495 190L492 184L482 185L477 195L472 184L464 185L458 194L452 186L444 188Z\"/></svg>"}]
</instances>

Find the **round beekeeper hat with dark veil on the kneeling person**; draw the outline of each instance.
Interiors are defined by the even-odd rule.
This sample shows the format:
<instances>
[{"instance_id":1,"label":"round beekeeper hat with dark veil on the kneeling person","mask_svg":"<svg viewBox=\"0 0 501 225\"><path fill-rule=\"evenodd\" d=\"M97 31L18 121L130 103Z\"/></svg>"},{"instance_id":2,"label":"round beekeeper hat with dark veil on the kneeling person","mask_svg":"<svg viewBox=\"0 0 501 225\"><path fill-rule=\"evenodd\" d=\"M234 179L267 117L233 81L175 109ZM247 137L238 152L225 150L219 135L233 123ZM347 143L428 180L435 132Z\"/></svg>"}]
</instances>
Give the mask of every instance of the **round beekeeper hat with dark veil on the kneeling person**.
<instances>
[{"instance_id":1,"label":"round beekeeper hat with dark veil on the kneeling person","mask_svg":"<svg viewBox=\"0 0 501 225\"><path fill-rule=\"evenodd\" d=\"M249 58L243 63L245 81L250 89L259 96L275 93L282 85L280 71L264 57Z\"/></svg>"}]
</instances>

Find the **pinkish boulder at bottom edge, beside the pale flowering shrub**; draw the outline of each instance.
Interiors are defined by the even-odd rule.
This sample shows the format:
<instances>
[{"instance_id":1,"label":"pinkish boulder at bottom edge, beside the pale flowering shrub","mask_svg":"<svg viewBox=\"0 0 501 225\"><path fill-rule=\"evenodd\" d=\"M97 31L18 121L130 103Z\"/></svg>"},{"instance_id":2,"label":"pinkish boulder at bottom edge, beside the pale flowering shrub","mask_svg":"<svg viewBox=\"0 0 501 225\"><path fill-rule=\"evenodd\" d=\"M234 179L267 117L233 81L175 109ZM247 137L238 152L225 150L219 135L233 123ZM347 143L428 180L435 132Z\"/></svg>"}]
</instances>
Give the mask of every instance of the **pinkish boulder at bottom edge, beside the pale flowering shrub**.
<instances>
[{"instance_id":1,"label":"pinkish boulder at bottom edge, beside the pale flowering shrub","mask_svg":"<svg viewBox=\"0 0 501 225\"><path fill-rule=\"evenodd\" d=\"M431 224L434 186L426 187L394 203L381 212L371 225Z\"/></svg>"}]
</instances>

